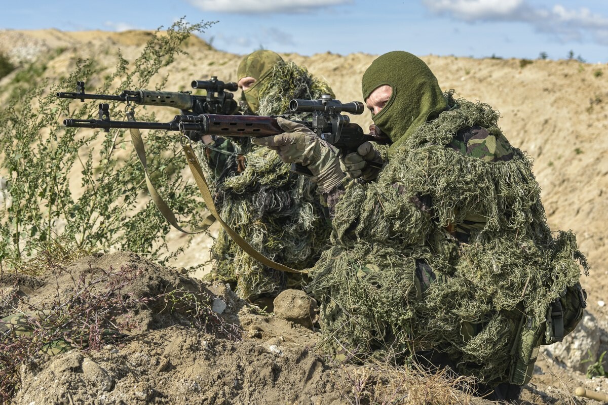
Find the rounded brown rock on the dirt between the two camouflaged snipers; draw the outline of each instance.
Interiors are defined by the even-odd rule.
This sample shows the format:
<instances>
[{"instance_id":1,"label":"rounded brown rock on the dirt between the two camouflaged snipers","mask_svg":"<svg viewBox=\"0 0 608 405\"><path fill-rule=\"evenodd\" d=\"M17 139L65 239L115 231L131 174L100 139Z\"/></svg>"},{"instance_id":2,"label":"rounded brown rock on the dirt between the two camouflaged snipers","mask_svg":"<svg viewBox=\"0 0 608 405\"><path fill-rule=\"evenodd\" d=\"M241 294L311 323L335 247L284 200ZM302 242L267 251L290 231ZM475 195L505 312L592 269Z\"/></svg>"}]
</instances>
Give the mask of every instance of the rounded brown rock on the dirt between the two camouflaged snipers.
<instances>
[{"instance_id":1,"label":"rounded brown rock on the dirt between the two camouflaged snipers","mask_svg":"<svg viewBox=\"0 0 608 405\"><path fill-rule=\"evenodd\" d=\"M274 299L274 315L312 328L318 305L302 290L285 290Z\"/></svg>"}]
</instances>

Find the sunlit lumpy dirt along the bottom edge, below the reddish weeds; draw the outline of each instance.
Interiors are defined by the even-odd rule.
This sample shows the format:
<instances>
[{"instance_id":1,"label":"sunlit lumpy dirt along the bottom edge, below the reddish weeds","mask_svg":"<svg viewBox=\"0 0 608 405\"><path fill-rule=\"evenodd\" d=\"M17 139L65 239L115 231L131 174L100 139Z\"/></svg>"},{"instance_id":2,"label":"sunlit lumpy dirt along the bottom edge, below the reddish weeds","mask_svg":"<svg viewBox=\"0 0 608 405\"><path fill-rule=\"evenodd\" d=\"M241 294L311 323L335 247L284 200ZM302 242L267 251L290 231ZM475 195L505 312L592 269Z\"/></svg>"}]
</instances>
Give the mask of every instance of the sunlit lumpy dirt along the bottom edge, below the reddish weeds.
<instances>
[{"instance_id":1,"label":"sunlit lumpy dirt along the bottom edge, below the reddish weeds","mask_svg":"<svg viewBox=\"0 0 608 405\"><path fill-rule=\"evenodd\" d=\"M269 350L173 326L22 371L16 403L331 404L339 393L322 359L302 347ZM44 387L43 390L40 387ZM336 402L337 403L337 402Z\"/></svg>"}]
</instances>

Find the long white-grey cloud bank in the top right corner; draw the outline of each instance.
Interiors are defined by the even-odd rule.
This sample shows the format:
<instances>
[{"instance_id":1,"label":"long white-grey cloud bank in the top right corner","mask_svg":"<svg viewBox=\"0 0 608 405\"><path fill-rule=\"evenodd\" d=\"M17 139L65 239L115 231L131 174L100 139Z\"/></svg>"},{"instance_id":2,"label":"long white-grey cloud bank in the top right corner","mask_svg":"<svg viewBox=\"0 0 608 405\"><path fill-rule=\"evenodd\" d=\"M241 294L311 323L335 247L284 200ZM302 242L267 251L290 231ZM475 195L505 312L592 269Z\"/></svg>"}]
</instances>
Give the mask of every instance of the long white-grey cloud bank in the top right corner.
<instances>
[{"instance_id":1,"label":"long white-grey cloud bank in the top right corner","mask_svg":"<svg viewBox=\"0 0 608 405\"><path fill-rule=\"evenodd\" d=\"M561 42L592 38L608 44L608 18L586 7L567 9L556 4L551 9L534 7L529 0L423 0L430 12L466 22L522 22Z\"/></svg>"}]
</instances>

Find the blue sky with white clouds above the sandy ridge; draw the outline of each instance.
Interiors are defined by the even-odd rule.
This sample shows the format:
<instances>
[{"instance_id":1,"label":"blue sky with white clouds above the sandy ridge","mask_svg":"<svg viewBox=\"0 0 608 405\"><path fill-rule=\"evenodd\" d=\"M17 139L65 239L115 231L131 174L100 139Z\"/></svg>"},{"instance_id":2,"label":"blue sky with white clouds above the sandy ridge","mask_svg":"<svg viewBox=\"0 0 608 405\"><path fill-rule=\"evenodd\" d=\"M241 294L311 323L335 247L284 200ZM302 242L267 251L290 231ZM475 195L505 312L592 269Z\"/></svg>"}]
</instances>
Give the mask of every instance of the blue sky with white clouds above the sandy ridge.
<instances>
[{"instance_id":1,"label":"blue sky with white clouds above the sandy ridge","mask_svg":"<svg viewBox=\"0 0 608 405\"><path fill-rule=\"evenodd\" d=\"M199 35L217 49L272 49L608 62L607 0L5 1L0 29L154 30L185 16L218 21Z\"/></svg>"}]
</instances>

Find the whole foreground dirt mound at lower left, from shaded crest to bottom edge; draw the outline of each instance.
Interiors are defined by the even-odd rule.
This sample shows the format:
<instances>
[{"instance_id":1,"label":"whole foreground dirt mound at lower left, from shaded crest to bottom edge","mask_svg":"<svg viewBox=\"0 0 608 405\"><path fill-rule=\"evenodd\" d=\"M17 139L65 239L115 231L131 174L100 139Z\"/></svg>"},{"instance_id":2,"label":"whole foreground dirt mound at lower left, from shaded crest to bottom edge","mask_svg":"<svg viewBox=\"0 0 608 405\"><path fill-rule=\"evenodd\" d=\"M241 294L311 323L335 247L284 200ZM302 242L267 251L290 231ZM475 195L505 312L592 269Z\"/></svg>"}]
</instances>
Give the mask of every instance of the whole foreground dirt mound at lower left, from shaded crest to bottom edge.
<instances>
[{"instance_id":1,"label":"whole foreground dirt mound at lower left, from shaded crest to bottom edge","mask_svg":"<svg viewBox=\"0 0 608 405\"><path fill-rule=\"evenodd\" d=\"M84 347L35 356L20 371L16 403L55 404L66 398L85 404L338 400L333 373L311 351L316 333L247 304L224 284L183 276L134 253L84 257L41 277L4 274L0 288L18 291L16 308L27 311L56 307L87 288L95 301L117 283L122 287L112 291L135 303L120 315L130 319L126 336L98 351ZM197 324L193 316L197 305L213 310L199 319L204 323Z\"/></svg>"}]
</instances>

